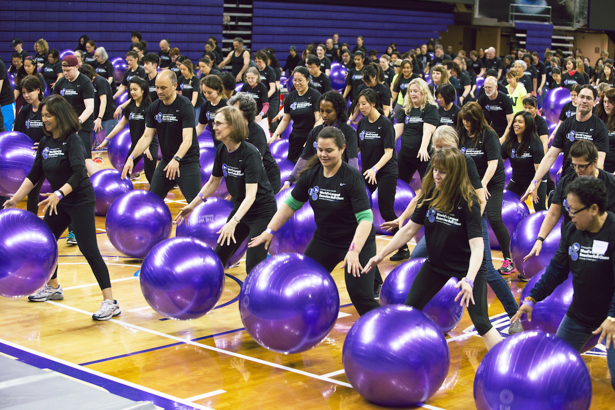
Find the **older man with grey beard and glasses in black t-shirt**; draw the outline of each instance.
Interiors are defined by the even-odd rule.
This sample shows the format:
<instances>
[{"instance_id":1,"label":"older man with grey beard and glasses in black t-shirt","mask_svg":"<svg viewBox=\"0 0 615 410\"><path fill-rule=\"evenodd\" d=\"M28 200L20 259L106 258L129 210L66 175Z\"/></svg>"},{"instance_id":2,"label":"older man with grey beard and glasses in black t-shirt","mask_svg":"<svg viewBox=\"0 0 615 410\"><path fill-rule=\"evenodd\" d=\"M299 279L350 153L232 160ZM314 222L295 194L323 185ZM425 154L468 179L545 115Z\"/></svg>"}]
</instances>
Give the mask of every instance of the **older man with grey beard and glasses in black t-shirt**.
<instances>
[{"instance_id":1,"label":"older man with grey beard and glasses in black t-shirt","mask_svg":"<svg viewBox=\"0 0 615 410\"><path fill-rule=\"evenodd\" d=\"M478 97L478 104L483 108L485 119L493 127L500 138L500 143L506 140L506 135L512 124L512 102L510 97L498 91L495 77L486 77L483 85L485 94Z\"/></svg>"}]
</instances>

